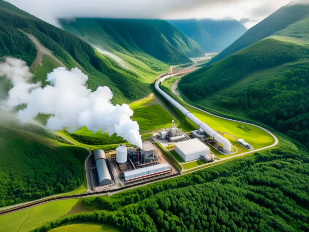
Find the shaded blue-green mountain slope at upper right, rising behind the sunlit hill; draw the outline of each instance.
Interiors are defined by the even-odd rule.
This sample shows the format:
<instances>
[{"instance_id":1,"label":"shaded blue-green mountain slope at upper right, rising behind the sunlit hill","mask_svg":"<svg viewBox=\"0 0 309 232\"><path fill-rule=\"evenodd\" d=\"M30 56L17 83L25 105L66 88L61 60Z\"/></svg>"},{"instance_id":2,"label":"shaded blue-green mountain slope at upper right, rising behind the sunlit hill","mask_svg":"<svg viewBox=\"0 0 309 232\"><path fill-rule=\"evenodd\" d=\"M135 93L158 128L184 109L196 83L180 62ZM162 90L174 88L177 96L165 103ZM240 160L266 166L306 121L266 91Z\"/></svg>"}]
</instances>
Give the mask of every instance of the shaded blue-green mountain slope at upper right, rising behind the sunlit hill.
<instances>
[{"instance_id":1,"label":"shaded blue-green mountain slope at upper right, rising behind the sunlit hill","mask_svg":"<svg viewBox=\"0 0 309 232\"><path fill-rule=\"evenodd\" d=\"M278 31L289 27L300 20L309 17L309 5L286 5L281 7L279 10L274 12L272 15L250 28L246 33L243 34L233 44L224 49L220 54L214 57L207 65L210 65L228 55L243 49L255 42L277 34ZM304 22L304 21L303 21ZM307 24L298 24L303 28L308 28ZM300 37L298 33L290 34L293 37Z\"/></svg>"}]
</instances>

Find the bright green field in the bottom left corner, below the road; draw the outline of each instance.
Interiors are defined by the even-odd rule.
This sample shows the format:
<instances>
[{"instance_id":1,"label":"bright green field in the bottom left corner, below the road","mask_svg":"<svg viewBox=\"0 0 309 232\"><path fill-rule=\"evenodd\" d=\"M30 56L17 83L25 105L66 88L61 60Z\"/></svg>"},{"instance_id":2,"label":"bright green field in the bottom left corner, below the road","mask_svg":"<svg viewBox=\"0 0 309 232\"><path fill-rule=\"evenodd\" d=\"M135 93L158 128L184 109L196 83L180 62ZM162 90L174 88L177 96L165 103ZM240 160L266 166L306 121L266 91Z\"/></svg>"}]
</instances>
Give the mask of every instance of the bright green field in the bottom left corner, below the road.
<instances>
[{"instance_id":1,"label":"bright green field in the bottom left corner, below the road","mask_svg":"<svg viewBox=\"0 0 309 232\"><path fill-rule=\"evenodd\" d=\"M53 201L14 213L1 215L0 231L28 232L43 225L47 221L66 215L77 202L78 199Z\"/></svg>"}]
</instances>

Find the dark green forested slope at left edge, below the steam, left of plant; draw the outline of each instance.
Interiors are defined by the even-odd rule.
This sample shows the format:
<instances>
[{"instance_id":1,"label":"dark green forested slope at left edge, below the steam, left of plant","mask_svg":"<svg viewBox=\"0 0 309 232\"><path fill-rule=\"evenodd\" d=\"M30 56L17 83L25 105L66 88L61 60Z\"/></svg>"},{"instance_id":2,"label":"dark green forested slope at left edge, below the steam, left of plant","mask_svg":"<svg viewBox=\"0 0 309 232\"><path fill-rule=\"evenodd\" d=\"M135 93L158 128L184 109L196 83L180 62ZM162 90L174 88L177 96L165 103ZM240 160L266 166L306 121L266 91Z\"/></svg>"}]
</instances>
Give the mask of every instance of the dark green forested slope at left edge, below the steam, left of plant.
<instances>
[{"instance_id":1,"label":"dark green forested slope at left edge, below the steam, left of plant","mask_svg":"<svg viewBox=\"0 0 309 232\"><path fill-rule=\"evenodd\" d=\"M84 181L86 149L57 144L36 134L61 141L38 127L28 129L0 125L0 207L72 191Z\"/></svg>"}]
</instances>

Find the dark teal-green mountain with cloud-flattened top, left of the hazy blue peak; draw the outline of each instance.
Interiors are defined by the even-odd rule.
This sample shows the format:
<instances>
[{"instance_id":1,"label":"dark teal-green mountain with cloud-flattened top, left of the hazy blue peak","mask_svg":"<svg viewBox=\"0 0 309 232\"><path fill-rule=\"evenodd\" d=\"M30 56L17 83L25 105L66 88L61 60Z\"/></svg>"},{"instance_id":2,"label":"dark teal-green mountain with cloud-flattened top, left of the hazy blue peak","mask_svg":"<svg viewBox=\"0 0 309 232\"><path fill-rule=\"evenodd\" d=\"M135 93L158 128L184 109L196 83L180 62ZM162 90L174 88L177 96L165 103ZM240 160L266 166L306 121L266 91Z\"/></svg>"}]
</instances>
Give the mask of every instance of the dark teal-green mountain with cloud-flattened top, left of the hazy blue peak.
<instances>
[{"instance_id":1,"label":"dark teal-green mountain with cloud-flattened top, left of the hazy blue peak","mask_svg":"<svg viewBox=\"0 0 309 232\"><path fill-rule=\"evenodd\" d=\"M138 59L148 54L168 64L180 64L190 62L188 56L203 55L196 41L165 20L78 18L61 19L60 23L67 31L92 38L92 43L101 42L104 49L133 54Z\"/></svg>"}]
</instances>

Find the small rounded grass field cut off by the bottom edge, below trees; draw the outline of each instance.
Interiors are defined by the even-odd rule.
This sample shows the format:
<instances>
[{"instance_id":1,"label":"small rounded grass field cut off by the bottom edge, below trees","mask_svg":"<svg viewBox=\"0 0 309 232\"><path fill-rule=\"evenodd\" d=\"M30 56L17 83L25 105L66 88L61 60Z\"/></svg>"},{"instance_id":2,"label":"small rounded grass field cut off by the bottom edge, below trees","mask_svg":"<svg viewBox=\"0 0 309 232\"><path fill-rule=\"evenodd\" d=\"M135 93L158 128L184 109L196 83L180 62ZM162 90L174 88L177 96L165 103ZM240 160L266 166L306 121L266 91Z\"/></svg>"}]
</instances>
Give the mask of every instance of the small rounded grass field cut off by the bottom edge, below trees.
<instances>
[{"instance_id":1,"label":"small rounded grass field cut off by the bottom edge, below trees","mask_svg":"<svg viewBox=\"0 0 309 232\"><path fill-rule=\"evenodd\" d=\"M97 223L78 223L67 226L61 226L50 230L50 232L118 232L121 231L114 226Z\"/></svg>"}]
</instances>

